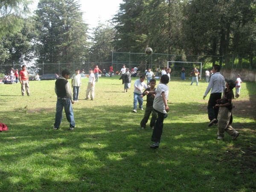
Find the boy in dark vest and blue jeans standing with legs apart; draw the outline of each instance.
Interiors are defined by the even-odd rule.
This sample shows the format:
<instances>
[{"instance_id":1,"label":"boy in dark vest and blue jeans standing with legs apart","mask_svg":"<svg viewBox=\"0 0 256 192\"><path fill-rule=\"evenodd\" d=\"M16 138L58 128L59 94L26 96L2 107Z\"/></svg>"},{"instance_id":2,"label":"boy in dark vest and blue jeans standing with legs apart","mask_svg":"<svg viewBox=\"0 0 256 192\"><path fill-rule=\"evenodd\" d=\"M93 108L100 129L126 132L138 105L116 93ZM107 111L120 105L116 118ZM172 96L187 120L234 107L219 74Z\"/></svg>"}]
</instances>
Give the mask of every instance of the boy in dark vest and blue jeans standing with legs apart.
<instances>
[{"instance_id":1,"label":"boy in dark vest and blue jeans standing with legs apart","mask_svg":"<svg viewBox=\"0 0 256 192\"><path fill-rule=\"evenodd\" d=\"M74 130L75 119L72 108L72 104L74 104L74 101L72 99L70 84L67 81L67 79L70 78L70 72L68 70L63 70L61 75L62 76L55 81L55 93L57 95L57 103L55 123L53 129L59 129L62 119L62 111L64 108L67 121L70 123L70 130Z\"/></svg>"}]
</instances>

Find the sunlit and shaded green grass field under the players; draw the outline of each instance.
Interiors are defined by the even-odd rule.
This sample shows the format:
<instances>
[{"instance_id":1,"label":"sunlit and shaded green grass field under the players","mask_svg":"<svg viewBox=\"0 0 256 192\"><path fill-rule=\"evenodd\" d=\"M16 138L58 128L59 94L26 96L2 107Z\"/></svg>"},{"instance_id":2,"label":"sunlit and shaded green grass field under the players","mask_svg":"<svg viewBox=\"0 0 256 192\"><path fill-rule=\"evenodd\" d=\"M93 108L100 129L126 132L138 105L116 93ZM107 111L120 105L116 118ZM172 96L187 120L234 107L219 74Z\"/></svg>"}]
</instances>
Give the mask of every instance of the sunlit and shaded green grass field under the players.
<instances>
[{"instance_id":1,"label":"sunlit and shaded green grass field under the players","mask_svg":"<svg viewBox=\"0 0 256 192\"><path fill-rule=\"evenodd\" d=\"M1 192L256 191L255 83L243 82L234 100L238 139L225 134L218 141L217 126L207 126L207 83L172 79L169 116L154 150L149 125L140 129L143 111L132 113L133 88L122 93L118 77L102 77L90 101L87 82L73 105L74 131L65 115L52 129L55 81L30 81L31 97L21 96L20 84L0 85L0 122L9 127L0 133Z\"/></svg>"}]
</instances>

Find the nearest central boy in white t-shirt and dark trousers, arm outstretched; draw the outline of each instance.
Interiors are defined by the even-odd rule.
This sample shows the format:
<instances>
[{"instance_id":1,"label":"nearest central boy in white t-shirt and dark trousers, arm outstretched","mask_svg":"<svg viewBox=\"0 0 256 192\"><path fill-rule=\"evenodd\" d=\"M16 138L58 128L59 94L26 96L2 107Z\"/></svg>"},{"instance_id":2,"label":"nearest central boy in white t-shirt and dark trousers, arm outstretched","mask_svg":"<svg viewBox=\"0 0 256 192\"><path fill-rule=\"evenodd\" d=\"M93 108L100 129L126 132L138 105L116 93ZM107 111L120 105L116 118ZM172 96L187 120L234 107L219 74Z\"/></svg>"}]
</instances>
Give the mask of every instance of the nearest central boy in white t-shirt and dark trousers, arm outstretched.
<instances>
[{"instance_id":1,"label":"nearest central boy in white t-shirt and dark trousers, arm outstretched","mask_svg":"<svg viewBox=\"0 0 256 192\"><path fill-rule=\"evenodd\" d=\"M150 148L158 148L161 135L163 132L163 119L167 117L167 112L169 111L169 107L167 105L167 99L169 94L168 87L169 77L167 75L161 76L160 84L157 86L155 91L146 91L146 94L156 94L153 102L153 110L157 112L157 121L154 125L153 134L151 137L151 141L155 143L150 145Z\"/></svg>"}]
</instances>

